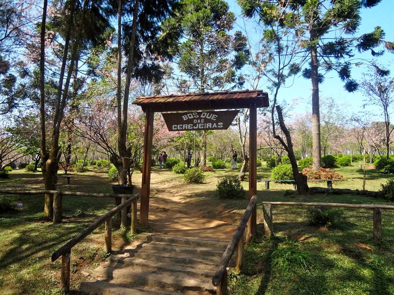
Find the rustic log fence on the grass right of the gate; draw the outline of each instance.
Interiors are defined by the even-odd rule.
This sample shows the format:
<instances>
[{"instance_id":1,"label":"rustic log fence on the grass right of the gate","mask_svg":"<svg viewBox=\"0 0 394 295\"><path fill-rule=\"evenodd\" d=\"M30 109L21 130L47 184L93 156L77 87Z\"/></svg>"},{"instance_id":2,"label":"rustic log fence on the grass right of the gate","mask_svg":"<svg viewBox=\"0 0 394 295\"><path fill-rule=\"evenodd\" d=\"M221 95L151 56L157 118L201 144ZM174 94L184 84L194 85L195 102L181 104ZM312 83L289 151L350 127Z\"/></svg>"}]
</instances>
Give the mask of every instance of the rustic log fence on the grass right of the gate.
<instances>
[{"instance_id":1,"label":"rustic log fence on the grass right of the gate","mask_svg":"<svg viewBox=\"0 0 394 295\"><path fill-rule=\"evenodd\" d=\"M373 238L375 241L382 240L382 209L394 210L394 206L388 205L362 205L362 204L342 204L342 203L298 203L298 202L262 202L264 211L264 233L266 236L273 235L272 205L286 206L331 206L342 208L364 208L374 210Z\"/></svg>"}]
</instances>

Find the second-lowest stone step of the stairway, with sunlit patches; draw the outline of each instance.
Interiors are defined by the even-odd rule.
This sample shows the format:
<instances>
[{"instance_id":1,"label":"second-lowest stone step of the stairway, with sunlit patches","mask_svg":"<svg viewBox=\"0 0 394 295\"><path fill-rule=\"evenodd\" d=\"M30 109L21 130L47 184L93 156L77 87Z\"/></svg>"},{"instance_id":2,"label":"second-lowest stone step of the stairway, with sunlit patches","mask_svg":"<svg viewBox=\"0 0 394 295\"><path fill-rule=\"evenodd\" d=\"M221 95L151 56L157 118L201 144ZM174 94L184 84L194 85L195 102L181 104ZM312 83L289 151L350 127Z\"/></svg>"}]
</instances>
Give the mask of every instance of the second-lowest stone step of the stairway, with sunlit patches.
<instances>
[{"instance_id":1,"label":"second-lowest stone step of the stairway, with sunlit patches","mask_svg":"<svg viewBox=\"0 0 394 295\"><path fill-rule=\"evenodd\" d=\"M172 273L169 271L152 273L141 270L134 265L123 265L122 268L101 265L93 271L93 277L132 284L132 288L135 288L135 286L147 286L155 289L164 289L164 291L193 290L214 292L216 290L216 287L212 285L212 277L199 278L176 271Z\"/></svg>"}]
</instances>

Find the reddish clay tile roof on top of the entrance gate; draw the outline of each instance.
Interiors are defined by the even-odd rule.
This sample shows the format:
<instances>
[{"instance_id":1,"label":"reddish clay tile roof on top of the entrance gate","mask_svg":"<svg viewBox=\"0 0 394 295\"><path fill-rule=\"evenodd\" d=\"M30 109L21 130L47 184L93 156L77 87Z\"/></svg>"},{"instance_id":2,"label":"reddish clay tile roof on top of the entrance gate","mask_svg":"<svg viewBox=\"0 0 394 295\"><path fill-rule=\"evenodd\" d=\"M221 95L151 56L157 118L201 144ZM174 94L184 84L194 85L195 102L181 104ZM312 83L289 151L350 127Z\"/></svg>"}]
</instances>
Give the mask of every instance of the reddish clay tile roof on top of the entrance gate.
<instances>
[{"instance_id":1,"label":"reddish clay tile roof on top of the entrance gate","mask_svg":"<svg viewBox=\"0 0 394 295\"><path fill-rule=\"evenodd\" d=\"M268 93L262 90L240 90L212 93L171 94L139 97L134 102L145 111L154 112L199 111L213 109L246 109L251 104L268 107Z\"/></svg>"}]
</instances>

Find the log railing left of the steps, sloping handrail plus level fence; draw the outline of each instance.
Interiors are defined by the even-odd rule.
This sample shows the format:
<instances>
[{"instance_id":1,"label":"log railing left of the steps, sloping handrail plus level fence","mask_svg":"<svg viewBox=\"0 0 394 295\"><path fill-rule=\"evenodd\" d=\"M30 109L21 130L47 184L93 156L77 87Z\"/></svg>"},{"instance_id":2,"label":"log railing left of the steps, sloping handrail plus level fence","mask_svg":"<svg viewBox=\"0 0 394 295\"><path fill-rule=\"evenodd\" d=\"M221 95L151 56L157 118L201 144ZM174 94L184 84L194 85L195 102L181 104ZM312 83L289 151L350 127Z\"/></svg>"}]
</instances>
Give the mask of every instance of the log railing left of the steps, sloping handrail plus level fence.
<instances>
[{"instance_id":1,"label":"log railing left of the steps, sloping handrail plus level fence","mask_svg":"<svg viewBox=\"0 0 394 295\"><path fill-rule=\"evenodd\" d=\"M106 198L122 198L122 203L110 210L104 216L101 216L97 221L92 223L84 231L72 238L65 245L60 247L57 251L52 254L52 262L61 257L61 282L60 287L63 291L68 292L70 290L70 258L71 248L77 243L81 242L88 234L97 229L100 225L105 222L105 233L104 233L104 251L106 253L112 252L112 216L122 211L121 227L126 225L127 207L131 205L131 233L137 232L137 200L141 197L141 194L128 195L128 194L91 194L82 192L62 192L56 190L33 190L33 191L18 191L18 190L0 190L2 194L14 194L14 195L39 195L39 194L53 194L54 195L54 223L61 221L61 210L62 210L62 196L63 195L76 195L81 197L106 197ZM129 199L127 199L129 198ZM56 212L56 218L55 218ZM59 217L60 215L60 217ZM56 219L56 221L55 221Z\"/></svg>"}]
</instances>

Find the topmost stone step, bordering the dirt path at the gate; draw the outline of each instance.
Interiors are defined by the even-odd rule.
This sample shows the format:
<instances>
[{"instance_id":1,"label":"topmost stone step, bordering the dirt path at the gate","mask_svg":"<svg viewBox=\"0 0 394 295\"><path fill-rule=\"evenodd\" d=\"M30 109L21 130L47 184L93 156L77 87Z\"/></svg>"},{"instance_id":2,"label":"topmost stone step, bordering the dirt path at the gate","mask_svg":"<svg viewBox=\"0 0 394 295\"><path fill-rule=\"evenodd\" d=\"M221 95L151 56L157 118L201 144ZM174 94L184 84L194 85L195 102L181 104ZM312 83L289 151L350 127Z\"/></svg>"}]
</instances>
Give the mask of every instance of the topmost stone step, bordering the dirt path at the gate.
<instances>
[{"instance_id":1,"label":"topmost stone step, bordering the dirt path at the gate","mask_svg":"<svg viewBox=\"0 0 394 295\"><path fill-rule=\"evenodd\" d=\"M141 240L146 239L147 241L164 242L169 244L177 245L192 245L198 247L209 247L216 249L225 250L230 243L230 240L220 240L214 238L192 238L192 237L177 237L167 236L165 234L150 234L143 233L139 234Z\"/></svg>"}]
</instances>

